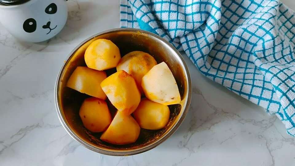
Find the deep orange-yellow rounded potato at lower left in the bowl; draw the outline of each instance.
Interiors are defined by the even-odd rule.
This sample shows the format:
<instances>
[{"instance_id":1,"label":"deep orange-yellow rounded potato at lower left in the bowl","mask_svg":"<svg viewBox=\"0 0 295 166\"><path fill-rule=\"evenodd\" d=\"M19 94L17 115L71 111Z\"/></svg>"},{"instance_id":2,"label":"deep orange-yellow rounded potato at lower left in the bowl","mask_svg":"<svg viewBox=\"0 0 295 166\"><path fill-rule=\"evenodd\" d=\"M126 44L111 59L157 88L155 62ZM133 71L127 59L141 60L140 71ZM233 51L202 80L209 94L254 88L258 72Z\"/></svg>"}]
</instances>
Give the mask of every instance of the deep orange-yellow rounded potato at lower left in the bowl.
<instances>
[{"instance_id":1,"label":"deep orange-yellow rounded potato at lower left in the bowl","mask_svg":"<svg viewBox=\"0 0 295 166\"><path fill-rule=\"evenodd\" d=\"M105 131L112 121L107 103L95 97L84 100L79 115L85 128L91 132Z\"/></svg>"}]
</instances>

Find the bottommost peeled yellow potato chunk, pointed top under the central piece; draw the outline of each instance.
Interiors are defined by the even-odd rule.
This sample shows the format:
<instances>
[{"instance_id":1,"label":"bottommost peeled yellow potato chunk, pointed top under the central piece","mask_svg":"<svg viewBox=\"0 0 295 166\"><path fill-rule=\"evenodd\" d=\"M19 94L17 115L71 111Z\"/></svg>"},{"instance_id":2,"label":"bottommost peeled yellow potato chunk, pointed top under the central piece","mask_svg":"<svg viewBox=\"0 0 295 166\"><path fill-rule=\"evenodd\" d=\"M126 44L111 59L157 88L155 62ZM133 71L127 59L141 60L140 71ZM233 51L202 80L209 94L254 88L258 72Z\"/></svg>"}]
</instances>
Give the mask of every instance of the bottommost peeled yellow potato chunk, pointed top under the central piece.
<instances>
[{"instance_id":1,"label":"bottommost peeled yellow potato chunk, pointed top under the central piece","mask_svg":"<svg viewBox=\"0 0 295 166\"><path fill-rule=\"evenodd\" d=\"M131 115L117 111L108 129L100 136L111 144L130 144L137 140L140 127Z\"/></svg>"}]
</instances>

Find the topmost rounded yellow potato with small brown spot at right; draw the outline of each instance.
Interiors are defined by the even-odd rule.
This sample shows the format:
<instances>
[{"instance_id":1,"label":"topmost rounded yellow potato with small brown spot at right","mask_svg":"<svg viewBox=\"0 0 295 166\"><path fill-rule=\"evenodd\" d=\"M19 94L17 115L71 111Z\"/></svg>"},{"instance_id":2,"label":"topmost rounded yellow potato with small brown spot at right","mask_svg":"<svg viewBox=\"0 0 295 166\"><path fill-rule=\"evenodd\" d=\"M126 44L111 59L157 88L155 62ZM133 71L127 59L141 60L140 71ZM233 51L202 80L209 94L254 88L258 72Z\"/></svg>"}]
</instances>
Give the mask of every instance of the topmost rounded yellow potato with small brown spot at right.
<instances>
[{"instance_id":1,"label":"topmost rounded yellow potato with small brown spot at right","mask_svg":"<svg viewBox=\"0 0 295 166\"><path fill-rule=\"evenodd\" d=\"M84 58L89 68L105 70L116 67L121 55L119 48L112 41L97 39L86 49Z\"/></svg>"}]
</instances>

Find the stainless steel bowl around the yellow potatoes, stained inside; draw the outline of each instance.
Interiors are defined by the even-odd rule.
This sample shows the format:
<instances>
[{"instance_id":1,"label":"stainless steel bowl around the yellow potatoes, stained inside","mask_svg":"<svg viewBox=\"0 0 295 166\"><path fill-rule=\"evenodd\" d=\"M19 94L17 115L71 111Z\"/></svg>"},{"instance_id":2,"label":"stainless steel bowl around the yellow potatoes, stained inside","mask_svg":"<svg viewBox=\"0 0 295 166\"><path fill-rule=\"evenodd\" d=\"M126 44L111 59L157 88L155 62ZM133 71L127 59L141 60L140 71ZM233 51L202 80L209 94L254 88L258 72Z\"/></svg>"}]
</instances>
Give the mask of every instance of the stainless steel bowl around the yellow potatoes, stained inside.
<instances>
[{"instance_id":1,"label":"stainless steel bowl around the yellow potatoes, stained inside","mask_svg":"<svg viewBox=\"0 0 295 166\"><path fill-rule=\"evenodd\" d=\"M91 133L83 127L79 117L81 103L88 95L66 87L66 83L77 66L86 66L84 53L90 43L99 38L109 39L115 43L121 56L131 51L144 51L151 54L155 60L166 62L171 69L179 87L181 103L170 105L170 120L167 126L160 130L141 129L138 140L128 145L108 144L99 139L101 133ZM106 71L108 75L116 69ZM55 85L55 104L58 117L67 132L80 144L92 151L113 156L128 156L155 148L166 140L183 121L191 101L191 78L188 68L180 53L167 41L147 31L137 29L113 29L93 35L78 45L69 54L62 66ZM109 104L112 113L116 110Z\"/></svg>"}]
</instances>

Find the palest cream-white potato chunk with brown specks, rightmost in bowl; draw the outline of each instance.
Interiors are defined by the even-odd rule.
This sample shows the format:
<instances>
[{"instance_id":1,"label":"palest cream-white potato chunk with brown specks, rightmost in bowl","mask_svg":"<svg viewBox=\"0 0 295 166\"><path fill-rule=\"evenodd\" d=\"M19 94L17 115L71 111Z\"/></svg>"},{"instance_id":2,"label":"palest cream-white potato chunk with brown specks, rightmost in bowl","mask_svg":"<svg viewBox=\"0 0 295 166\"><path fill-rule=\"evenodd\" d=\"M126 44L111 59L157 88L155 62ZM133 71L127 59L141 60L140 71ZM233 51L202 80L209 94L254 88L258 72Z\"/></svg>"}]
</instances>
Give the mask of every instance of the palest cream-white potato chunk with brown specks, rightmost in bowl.
<instances>
[{"instance_id":1,"label":"palest cream-white potato chunk with brown specks, rightmost in bowl","mask_svg":"<svg viewBox=\"0 0 295 166\"><path fill-rule=\"evenodd\" d=\"M142 77L141 87L145 96L151 101L163 105L180 103L175 78L165 62L155 65Z\"/></svg>"}]
</instances>

